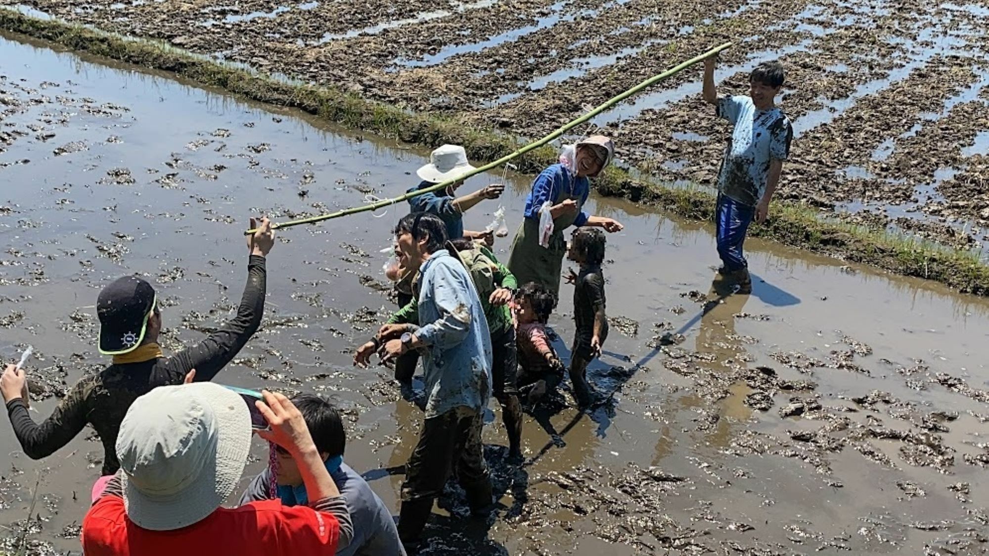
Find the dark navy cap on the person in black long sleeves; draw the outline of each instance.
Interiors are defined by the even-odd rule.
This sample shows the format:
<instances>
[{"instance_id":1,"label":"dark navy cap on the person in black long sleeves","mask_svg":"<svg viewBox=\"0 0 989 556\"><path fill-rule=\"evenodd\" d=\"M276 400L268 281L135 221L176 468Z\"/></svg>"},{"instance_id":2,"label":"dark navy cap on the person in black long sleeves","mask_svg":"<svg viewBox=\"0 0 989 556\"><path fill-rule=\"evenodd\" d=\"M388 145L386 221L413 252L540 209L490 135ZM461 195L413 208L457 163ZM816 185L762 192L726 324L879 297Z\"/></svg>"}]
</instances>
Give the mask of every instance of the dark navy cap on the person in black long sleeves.
<instances>
[{"instance_id":1,"label":"dark navy cap on the person in black long sleeves","mask_svg":"<svg viewBox=\"0 0 989 556\"><path fill-rule=\"evenodd\" d=\"M146 280L125 276L103 288L96 300L100 319L100 353L121 355L134 351L144 341L147 319L157 295Z\"/></svg>"}]
</instances>

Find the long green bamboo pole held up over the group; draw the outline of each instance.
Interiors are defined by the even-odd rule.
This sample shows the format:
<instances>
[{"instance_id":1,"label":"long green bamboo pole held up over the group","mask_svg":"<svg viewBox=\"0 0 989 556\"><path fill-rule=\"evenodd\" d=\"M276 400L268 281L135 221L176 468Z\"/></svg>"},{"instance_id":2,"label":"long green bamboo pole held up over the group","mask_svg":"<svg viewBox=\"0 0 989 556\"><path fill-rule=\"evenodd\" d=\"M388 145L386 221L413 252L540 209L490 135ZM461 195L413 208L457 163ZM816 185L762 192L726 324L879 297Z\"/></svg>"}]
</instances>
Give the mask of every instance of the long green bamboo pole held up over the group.
<instances>
[{"instance_id":1,"label":"long green bamboo pole held up over the group","mask_svg":"<svg viewBox=\"0 0 989 556\"><path fill-rule=\"evenodd\" d=\"M390 205L395 205L397 203L402 203L402 202L407 201L407 200L409 200L409 199L411 199L413 197L418 197L419 195L423 195L425 193L432 193L434 191L439 191L439 190L442 190L442 189L446 189L447 187L453 185L454 183L456 183L458 181L466 180L467 178L476 176L478 174L487 172L489 170L493 170L494 168L500 166L501 164L504 164L505 162L508 162L508 161L512 160L513 158L517 158L517 157L525 154L526 152L529 152L530 150L534 150L536 148L539 148L540 146L543 146L544 144L546 144L546 143L548 143L548 142L550 142L550 141L552 141L554 139L557 139L557 138L562 137L564 134L566 134L570 130L573 130L574 128L580 126L581 124L584 124L585 122L589 121L591 118L597 116L598 114L604 112L605 110L611 108L612 106L614 106L614 105L622 102L623 100L631 97L632 95L638 94L638 93L642 92L643 90L645 90L645 89L647 89L647 88L655 85L656 83L659 83L660 81L662 81L662 80L664 80L664 79L666 79L668 77L671 77L671 76L675 75L676 73L679 73L680 71L686 69L687 67L689 67L689 66L691 66L691 65L693 65L693 64L695 64L695 63L697 63L699 61L702 61L704 58L708 58L710 56L716 55L716 54L718 54L718 52L720 52L720 51L722 51L722 50L724 50L724 49L726 49L726 48L728 48L730 46L732 46L732 43L725 43L725 44L723 44L721 46L715 46L714 48L711 48L710 50L707 50L706 52L704 52L704 53L702 53L702 54L700 54L698 56L694 56L694 57L692 57L692 58L690 58L690 59L688 59L688 60L680 63L679 65L675 65L674 67L672 67L672 68L664 71L663 73L660 73L658 75L654 75L654 76L650 77L649 79L646 79L645 81L642 81L638 85L632 87L631 89L625 91L624 93L622 93L622 94L620 94L620 95L618 95L616 97L613 97L613 98L605 101L600 106L594 108L590 112L587 112L586 114L584 114L584 116L581 116L577 120L573 120L573 121L569 122L568 124L565 124L559 130L551 133L550 135L544 137L543 139L537 139L537 140L535 140L533 142L530 142L529 144L526 144L525 146L522 146L522 147L518 148L517 150L515 150L512 153L506 154L506 155L498 158L497 160L495 160L494 162L492 162L490 164L485 164L484 166L481 166L479 168L475 168L475 169L471 170L470 172L467 172L466 174L464 174L463 176L461 176L461 177L459 177L457 179L452 179L452 180L444 181L442 183L437 183L436 185L427 187L425 189L419 189L419 190L413 191L411 193L405 193L405 195L401 195L399 197L395 197L395 198L392 198L392 199L383 199L381 201L377 201L377 202L372 203L370 205L362 205L360 207L351 207L349 209L344 209L342 211L337 211L335 213L330 213L330 214L326 214L326 215L319 215L319 216L315 216L315 217L310 217L310 218L305 218L305 219L300 219L300 220L294 220L294 221L290 221L290 222L283 222L281 224L275 223L275 224L272 224L271 225L271 228L272 228L272 230L281 230L283 228L292 228L293 226L300 226L300 225L304 225L304 224L316 224L316 223L319 223L319 222L322 222L322 221L325 221L325 220L332 220L332 219L337 219L337 218L346 217L346 216L350 216L350 215L356 215L357 213L365 213L365 212L368 212L368 211L377 211L378 209L383 209L383 208L388 207ZM257 232L257 230L248 230L248 231L244 232L244 235L250 235L251 233L254 233L254 232Z\"/></svg>"}]
</instances>

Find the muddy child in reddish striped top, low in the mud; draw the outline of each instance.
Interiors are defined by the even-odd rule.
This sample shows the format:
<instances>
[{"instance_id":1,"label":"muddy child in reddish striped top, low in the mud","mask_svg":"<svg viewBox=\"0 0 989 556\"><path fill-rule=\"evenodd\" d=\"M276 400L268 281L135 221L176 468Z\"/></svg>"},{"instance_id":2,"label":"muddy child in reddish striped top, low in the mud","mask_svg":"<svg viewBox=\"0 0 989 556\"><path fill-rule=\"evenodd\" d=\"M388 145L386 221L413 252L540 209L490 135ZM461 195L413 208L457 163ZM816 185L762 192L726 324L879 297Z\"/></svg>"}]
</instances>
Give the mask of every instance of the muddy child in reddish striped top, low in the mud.
<instances>
[{"instance_id":1,"label":"muddy child in reddish striped top, low in the mud","mask_svg":"<svg viewBox=\"0 0 989 556\"><path fill-rule=\"evenodd\" d=\"M546 323L554 307L556 296L542 284L529 282L515 294L515 320L518 323L515 338L518 363L522 367L518 391L532 405L556 389L566 369L546 334Z\"/></svg>"}]
</instances>

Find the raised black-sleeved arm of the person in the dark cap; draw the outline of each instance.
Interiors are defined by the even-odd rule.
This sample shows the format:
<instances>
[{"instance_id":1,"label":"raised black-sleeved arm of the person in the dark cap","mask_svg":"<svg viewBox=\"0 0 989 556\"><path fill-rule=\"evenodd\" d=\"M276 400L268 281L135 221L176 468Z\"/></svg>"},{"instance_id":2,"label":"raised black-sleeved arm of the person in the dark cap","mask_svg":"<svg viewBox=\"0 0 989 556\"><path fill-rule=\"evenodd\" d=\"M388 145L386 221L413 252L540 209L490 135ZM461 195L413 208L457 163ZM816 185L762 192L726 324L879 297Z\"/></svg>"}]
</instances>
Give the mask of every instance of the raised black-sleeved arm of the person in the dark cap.
<instances>
[{"instance_id":1,"label":"raised black-sleeved arm of the person in the dark cap","mask_svg":"<svg viewBox=\"0 0 989 556\"><path fill-rule=\"evenodd\" d=\"M213 380L260 327L266 289L265 259L251 255L247 263L247 285L237 316L198 345L169 358L166 363L168 369L179 376L196 369L196 382Z\"/></svg>"}]
</instances>

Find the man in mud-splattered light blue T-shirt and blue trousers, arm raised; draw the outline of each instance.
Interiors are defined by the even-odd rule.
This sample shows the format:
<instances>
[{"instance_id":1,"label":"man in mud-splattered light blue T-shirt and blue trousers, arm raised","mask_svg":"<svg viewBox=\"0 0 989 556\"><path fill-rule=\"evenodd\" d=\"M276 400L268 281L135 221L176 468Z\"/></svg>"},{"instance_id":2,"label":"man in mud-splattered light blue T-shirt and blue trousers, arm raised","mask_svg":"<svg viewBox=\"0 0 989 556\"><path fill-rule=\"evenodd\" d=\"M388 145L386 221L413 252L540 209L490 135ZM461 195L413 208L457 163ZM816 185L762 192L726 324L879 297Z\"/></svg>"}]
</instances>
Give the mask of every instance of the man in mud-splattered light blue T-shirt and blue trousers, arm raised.
<instances>
[{"instance_id":1,"label":"man in mud-splattered light blue T-shirt and blue trousers, arm raised","mask_svg":"<svg viewBox=\"0 0 989 556\"><path fill-rule=\"evenodd\" d=\"M789 156L793 128L775 106L784 79L779 62L764 62L753 69L749 96L718 97L714 65L714 56L704 59L702 95L716 107L718 117L734 127L718 173L715 227L722 262L718 272L738 285L738 293L750 294L752 277L742 244L753 220L763 223L769 214L783 160Z\"/></svg>"}]
</instances>

